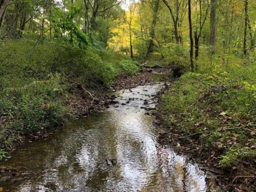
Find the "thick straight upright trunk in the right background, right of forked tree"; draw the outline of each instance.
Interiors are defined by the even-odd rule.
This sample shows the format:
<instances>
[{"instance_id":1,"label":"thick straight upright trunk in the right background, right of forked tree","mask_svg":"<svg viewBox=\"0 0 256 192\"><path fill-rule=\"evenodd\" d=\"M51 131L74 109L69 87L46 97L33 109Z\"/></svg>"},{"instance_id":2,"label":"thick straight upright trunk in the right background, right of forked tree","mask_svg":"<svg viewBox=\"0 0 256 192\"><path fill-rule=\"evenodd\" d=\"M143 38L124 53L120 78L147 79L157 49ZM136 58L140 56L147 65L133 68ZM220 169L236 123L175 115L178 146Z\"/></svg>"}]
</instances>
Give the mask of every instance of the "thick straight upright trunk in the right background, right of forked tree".
<instances>
[{"instance_id":1,"label":"thick straight upright trunk in the right background, right of forked tree","mask_svg":"<svg viewBox=\"0 0 256 192\"><path fill-rule=\"evenodd\" d=\"M209 43L213 47L215 46L216 40L216 9L218 5L218 0L212 0L211 2L211 13L210 13L210 40ZM214 49L213 52L214 53Z\"/></svg>"}]
</instances>

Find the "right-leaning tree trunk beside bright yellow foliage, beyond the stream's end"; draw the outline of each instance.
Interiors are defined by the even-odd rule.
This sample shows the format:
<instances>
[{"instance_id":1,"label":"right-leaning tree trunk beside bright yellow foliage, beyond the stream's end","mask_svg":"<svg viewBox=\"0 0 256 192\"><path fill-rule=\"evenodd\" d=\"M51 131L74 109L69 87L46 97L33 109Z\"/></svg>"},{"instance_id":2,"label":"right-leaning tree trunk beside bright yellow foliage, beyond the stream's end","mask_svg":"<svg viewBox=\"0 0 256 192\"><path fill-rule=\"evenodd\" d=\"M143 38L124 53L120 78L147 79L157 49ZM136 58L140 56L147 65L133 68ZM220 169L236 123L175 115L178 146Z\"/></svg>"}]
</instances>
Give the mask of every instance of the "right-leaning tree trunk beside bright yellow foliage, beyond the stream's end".
<instances>
[{"instance_id":1,"label":"right-leaning tree trunk beside bright yellow foliage, beyond the stream's end","mask_svg":"<svg viewBox=\"0 0 256 192\"><path fill-rule=\"evenodd\" d=\"M159 9L159 0L155 0L154 7L152 9L153 10L153 20L152 20L152 24L151 24L151 31L149 33L149 35L151 36L151 39L149 40L148 52L146 55L147 58L154 51L155 25L157 24L158 9Z\"/></svg>"}]
</instances>

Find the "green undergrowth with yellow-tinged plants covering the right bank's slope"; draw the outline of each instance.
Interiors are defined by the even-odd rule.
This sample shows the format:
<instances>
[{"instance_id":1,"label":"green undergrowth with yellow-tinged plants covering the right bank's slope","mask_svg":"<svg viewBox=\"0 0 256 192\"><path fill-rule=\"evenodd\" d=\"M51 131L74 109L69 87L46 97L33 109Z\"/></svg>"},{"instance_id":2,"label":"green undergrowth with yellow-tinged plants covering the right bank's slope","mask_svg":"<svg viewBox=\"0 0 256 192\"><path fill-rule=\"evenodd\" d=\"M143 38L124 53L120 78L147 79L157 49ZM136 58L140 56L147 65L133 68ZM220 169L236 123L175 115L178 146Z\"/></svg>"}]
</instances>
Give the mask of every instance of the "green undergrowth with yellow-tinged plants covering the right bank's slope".
<instances>
[{"instance_id":1,"label":"green undergrowth with yellow-tinged plants covering the right bank's slope","mask_svg":"<svg viewBox=\"0 0 256 192\"><path fill-rule=\"evenodd\" d=\"M159 115L185 143L196 141L194 148L212 155L213 165L254 164L255 60L203 53L197 64L197 73L185 73L163 94Z\"/></svg>"}]
</instances>

